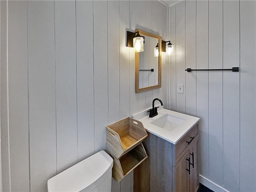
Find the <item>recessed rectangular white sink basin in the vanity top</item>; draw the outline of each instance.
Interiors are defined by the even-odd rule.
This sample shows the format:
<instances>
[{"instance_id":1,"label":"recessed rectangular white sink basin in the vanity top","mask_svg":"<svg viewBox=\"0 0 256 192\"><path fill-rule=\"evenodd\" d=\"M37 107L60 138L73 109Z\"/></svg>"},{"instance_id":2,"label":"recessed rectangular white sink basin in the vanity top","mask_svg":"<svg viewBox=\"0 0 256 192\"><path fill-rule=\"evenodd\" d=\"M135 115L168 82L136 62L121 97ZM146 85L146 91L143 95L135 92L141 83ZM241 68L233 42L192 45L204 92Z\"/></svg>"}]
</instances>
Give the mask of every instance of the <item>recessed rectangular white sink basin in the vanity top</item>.
<instances>
[{"instance_id":1,"label":"recessed rectangular white sink basin in the vanity top","mask_svg":"<svg viewBox=\"0 0 256 192\"><path fill-rule=\"evenodd\" d=\"M185 122L186 119L172 116L171 114L165 114L162 117L152 121L151 124L168 131L174 131L178 126L184 124Z\"/></svg>"}]
</instances>

